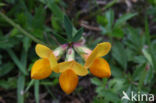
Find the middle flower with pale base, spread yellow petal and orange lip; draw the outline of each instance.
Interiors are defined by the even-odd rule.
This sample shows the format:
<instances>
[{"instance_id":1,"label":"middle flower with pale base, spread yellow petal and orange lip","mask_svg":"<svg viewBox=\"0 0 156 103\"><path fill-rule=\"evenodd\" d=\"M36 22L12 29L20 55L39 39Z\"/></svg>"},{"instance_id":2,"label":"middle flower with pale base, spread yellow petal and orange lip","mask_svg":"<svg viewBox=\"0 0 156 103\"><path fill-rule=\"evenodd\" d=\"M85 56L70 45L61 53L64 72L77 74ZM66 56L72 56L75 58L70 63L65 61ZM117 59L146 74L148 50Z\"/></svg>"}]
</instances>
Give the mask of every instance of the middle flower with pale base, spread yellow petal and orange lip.
<instances>
[{"instance_id":1,"label":"middle flower with pale base, spread yellow petal and orange lip","mask_svg":"<svg viewBox=\"0 0 156 103\"><path fill-rule=\"evenodd\" d=\"M88 70L86 68L75 60L72 60L74 55L73 53L73 50L70 48L67 52L67 54L70 54L68 55L67 60L70 61L59 63L54 67L55 72L61 73L59 83L66 94L70 94L75 90L78 84L78 76L85 76L88 74Z\"/></svg>"}]
</instances>

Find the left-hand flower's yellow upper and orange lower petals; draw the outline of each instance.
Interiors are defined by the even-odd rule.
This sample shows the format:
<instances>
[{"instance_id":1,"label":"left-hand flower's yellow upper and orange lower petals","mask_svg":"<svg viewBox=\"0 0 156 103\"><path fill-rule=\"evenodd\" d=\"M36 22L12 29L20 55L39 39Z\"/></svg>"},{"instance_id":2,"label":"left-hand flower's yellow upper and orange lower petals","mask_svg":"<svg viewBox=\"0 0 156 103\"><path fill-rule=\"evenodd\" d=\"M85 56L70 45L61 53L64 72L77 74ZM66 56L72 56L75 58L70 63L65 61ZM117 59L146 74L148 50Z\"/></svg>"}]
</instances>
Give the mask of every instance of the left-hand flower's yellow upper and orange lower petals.
<instances>
[{"instance_id":1,"label":"left-hand flower's yellow upper and orange lower petals","mask_svg":"<svg viewBox=\"0 0 156 103\"><path fill-rule=\"evenodd\" d=\"M42 44L37 44L35 51L40 59L35 61L32 66L31 78L38 80L47 78L50 76L53 67L57 65L57 59L53 51Z\"/></svg>"}]
</instances>

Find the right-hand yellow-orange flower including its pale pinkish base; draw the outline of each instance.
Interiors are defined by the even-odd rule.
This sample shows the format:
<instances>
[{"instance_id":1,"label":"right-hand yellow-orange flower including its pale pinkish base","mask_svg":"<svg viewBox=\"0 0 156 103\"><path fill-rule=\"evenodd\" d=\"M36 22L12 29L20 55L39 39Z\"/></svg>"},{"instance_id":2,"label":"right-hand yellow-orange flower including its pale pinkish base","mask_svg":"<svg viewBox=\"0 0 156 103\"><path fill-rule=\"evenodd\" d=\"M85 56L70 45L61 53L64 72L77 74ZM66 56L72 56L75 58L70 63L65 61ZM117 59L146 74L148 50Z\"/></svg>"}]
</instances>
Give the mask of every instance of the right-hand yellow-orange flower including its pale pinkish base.
<instances>
[{"instance_id":1,"label":"right-hand yellow-orange flower including its pale pinkish base","mask_svg":"<svg viewBox=\"0 0 156 103\"><path fill-rule=\"evenodd\" d=\"M81 54L85 60L85 68L89 68L90 72L100 78L110 77L111 71L109 64L102 57L108 54L111 49L109 42L98 44L93 51L87 47L77 46L75 49Z\"/></svg>"}]
</instances>

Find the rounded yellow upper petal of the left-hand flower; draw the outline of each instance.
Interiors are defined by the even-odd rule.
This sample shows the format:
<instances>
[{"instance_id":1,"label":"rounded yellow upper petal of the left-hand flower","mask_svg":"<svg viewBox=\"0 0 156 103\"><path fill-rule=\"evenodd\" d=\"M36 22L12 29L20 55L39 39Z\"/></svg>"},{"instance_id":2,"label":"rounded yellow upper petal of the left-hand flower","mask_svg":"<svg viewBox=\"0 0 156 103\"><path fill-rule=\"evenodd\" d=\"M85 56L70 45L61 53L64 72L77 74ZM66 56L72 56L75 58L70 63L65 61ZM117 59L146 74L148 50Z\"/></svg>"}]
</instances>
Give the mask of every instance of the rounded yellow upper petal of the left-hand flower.
<instances>
[{"instance_id":1,"label":"rounded yellow upper petal of the left-hand flower","mask_svg":"<svg viewBox=\"0 0 156 103\"><path fill-rule=\"evenodd\" d=\"M50 56L50 54L52 53L51 49L49 49L48 47L46 47L42 44L37 44L35 50L36 50L36 54L40 58L48 58Z\"/></svg>"}]
</instances>

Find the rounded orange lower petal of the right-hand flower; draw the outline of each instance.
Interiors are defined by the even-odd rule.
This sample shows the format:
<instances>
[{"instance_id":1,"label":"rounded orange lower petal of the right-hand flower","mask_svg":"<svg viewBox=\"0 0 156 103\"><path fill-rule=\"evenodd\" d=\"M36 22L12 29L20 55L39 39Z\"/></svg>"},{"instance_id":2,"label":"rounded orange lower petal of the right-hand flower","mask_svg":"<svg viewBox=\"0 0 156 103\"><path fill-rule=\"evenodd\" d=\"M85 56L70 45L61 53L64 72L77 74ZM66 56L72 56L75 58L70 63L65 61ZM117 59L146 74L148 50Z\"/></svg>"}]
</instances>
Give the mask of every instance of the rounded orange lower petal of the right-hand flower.
<instances>
[{"instance_id":1,"label":"rounded orange lower petal of the right-hand flower","mask_svg":"<svg viewBox=\"0 0 156 103\"><path fill-rule=\"evenodd\" d=\"M89 69L93 75L100 78L111 76L109 64L103 58L96 58Z\"/></svg>"}]
</instances>

